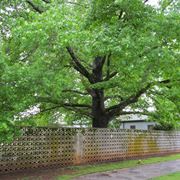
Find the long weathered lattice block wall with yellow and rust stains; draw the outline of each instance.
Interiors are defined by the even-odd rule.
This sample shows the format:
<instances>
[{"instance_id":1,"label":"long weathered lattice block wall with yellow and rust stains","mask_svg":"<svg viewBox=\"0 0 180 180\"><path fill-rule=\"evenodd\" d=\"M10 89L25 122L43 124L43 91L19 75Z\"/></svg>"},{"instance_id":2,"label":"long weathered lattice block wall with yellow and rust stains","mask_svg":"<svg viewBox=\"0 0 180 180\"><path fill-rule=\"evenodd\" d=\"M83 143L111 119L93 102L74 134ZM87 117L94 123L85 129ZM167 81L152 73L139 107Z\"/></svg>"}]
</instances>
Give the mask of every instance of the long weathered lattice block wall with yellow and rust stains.
<instances>
[{"instance_id":1,"label":"long weathered lattice block wall with yellow and rust stains","mask_svg":"<svg viewBox=\"0 0 180 180\"><path fill-rule=\"evenodd\" d=\"M180 152L178 131L23 128L20 138L0 144L0 173L176 152Z\"/></svg>"}]
</instances>

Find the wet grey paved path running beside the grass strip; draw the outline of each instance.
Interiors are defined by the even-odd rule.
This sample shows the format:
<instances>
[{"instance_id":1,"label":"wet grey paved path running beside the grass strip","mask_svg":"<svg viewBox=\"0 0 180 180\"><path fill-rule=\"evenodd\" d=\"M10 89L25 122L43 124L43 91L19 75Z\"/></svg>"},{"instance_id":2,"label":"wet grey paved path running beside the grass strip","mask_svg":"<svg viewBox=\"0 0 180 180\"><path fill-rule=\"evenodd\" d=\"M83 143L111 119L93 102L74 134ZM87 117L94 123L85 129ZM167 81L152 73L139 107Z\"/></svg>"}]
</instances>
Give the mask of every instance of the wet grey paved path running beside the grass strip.
<instances>
[{"instance_id":1,"label":"wet grey paved path running beside the grass strip","mask_svg":"<svg viewBox=\"0 0 180 180\"><path fill-rule=\"evenodd\" d=\"M89 174L76 180L146 180L177 171L180 171L180 160Z\"/></svg>"}]
</instances>

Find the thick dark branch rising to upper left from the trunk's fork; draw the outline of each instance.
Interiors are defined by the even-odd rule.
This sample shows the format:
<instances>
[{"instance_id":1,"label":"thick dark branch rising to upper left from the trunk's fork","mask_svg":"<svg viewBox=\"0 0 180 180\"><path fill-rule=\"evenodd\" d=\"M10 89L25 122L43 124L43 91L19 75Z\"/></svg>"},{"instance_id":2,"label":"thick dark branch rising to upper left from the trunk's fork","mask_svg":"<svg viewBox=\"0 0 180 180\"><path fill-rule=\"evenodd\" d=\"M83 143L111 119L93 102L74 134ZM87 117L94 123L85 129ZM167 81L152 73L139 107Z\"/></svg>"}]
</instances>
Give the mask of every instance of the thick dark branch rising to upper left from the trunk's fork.
<instances>
[{"instance_id":1,"label":"thick dark branch rising to upper left from the trunk's fork","mask_svg":"<svg viewBox=\"0 0 180 180\"><path fill-rule=\"evenodd\" d=\"M72 65L75 70L77 70L80 74L82 74L84 77L86 77L90 83L94 83L92 75L87 71L87 69L80 63L78 57L74 53L73 49L71 47L66 47L69 55L72 58Z\"/></svg>"}]
</instances>

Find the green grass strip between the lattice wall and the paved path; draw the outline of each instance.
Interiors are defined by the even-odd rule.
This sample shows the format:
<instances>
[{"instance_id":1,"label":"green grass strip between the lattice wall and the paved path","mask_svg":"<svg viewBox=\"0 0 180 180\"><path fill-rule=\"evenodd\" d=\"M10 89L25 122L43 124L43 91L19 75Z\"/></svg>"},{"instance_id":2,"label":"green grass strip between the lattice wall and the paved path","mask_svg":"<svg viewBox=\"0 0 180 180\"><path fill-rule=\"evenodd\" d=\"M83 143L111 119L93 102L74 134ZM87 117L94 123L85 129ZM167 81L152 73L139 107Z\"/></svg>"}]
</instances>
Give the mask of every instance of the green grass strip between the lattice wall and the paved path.
<instances>
[{"instance_id":1,"label":"green grass strip between the lattice wall and the paved path","mask_svg":"<svg viewBox=\"0 0 180 180\"><path fill-rule=\"evenodd\" d=\"M74 167L71 167L71 170L72 170L71 174L59 176L58 180L72 180L75 177L86 175L86 174L112 171L112 170L117 170L117 169L122 169L122 168L136 167L143 164L159 163L159 162L171 161L171 160L176 160L176 159L180 159L180 154L163 156L163 157L153 157L153 158L148 158L148 159L143 159L143 160L127 160L127 161L113 162L113 163L106 163L106 164L74 166Z\"/></svg>"}]
</instances>

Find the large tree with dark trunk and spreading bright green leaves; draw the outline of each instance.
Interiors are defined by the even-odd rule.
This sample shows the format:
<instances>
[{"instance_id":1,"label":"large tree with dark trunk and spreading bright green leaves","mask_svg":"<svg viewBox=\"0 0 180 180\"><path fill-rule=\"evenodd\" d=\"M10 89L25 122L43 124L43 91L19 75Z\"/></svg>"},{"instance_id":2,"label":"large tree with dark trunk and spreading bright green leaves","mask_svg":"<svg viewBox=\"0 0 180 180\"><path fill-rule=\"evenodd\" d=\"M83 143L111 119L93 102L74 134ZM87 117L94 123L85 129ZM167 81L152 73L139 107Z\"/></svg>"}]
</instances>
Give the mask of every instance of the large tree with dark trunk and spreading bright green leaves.
<instances>
[{"instance_id":1,"label":"large tree with dark trunk and spreading bright green leaves","mask_svg":"<svg viewBox=\"0 0 180 180\"><path fill-rule=\"evenodd\" d=\"M18 2L5 3L2 18L0 78L11 114L38 106L98 128L126 114L179 120L176 1Z\"/></svg>"}]
</instances>

